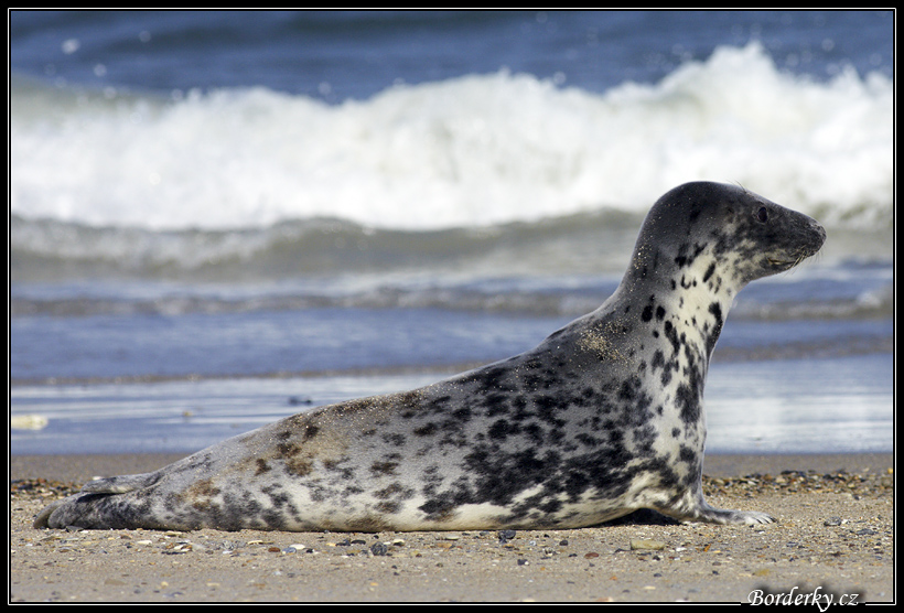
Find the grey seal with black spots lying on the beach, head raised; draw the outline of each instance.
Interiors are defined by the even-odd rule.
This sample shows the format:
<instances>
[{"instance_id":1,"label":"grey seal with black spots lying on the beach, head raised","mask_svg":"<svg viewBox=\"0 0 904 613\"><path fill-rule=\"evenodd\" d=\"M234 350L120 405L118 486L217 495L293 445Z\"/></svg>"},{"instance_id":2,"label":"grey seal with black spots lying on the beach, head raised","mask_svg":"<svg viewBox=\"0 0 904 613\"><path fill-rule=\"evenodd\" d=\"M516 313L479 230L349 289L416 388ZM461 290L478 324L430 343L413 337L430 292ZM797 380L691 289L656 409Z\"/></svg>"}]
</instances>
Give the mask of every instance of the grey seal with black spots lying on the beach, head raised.
<instances>
[{"instance_id":1,"label":"grey seal with black spots lying on the beach, head raised","mask_svg":"<svg viewBox=\"0 0 904 613\"><path fill-rule=\"evenodd\" d=\"M618 288L537 347L411 391L331 405L159 471L99 478L35 527L542 529L638 508L763 524L703 498L703 385L750 281L816 254L811 218L735 185L660 197Z\"/></svg>"}]
</instances>

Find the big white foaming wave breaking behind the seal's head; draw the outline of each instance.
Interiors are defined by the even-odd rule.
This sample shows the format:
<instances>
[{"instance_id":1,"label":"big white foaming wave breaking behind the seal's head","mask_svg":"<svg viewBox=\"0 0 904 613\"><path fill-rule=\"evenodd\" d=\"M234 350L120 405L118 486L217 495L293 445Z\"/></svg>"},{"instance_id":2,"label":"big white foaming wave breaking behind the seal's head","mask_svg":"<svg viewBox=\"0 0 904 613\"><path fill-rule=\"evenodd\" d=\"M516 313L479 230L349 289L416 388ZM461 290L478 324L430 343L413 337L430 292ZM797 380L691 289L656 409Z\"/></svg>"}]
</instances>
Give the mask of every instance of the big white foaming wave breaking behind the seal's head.
<instances>
[{"instance_id":1,"label":"big white foaming wave breaking behind the seal's head","mask_svg":"<svg viewBox=\"0 0 904 613\"><path fill-rule=\"evenodd\" d=\"M94 227L487 228L639 215L697 179L826 223L892 219L892 80L794 76L757 43L602 94L505 71L335 106L265 88L163 99L13 78L10 130L11 213ZM143 257L140 241L123 248Z\"/></svg>"}]
</instances>

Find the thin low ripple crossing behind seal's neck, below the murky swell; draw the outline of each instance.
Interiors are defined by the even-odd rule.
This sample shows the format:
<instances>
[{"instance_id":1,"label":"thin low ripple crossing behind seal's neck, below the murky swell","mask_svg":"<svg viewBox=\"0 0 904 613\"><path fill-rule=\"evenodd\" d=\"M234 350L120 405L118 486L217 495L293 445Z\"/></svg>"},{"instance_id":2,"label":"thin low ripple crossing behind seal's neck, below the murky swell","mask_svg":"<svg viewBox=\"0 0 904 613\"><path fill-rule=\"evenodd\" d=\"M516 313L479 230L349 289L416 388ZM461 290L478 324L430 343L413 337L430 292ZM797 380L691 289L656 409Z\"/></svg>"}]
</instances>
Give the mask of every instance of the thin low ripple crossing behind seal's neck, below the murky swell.
<instances>
[{"instance_id":1,"label":"thin low ripple crossing behind seal's neck, below the murky swell","mask_svg":"<svg viewBox=\"0 0 904 613\"><path fill-rule=\"evenodd\" d=\"M545 290L489 291L489 287L473 288L438 284L430 288L384 286L335 294L323 292L273 292L259 295L217 295L204 292L169 292L153 298L122 297L46 297L13 295L10 315L79 318L96 315L179 316L189 314L236 314L331 309L367 309L408 311L440 309L475 313L510 313L531 318L577 318L594 311L611 294L611 280L574 288ZM893 286L863 290L853 297L816 302L766 302L740 300L732 313L733 321L786 322L870 320L890 321L894 315Z\"/></svg>"}]
</instances>

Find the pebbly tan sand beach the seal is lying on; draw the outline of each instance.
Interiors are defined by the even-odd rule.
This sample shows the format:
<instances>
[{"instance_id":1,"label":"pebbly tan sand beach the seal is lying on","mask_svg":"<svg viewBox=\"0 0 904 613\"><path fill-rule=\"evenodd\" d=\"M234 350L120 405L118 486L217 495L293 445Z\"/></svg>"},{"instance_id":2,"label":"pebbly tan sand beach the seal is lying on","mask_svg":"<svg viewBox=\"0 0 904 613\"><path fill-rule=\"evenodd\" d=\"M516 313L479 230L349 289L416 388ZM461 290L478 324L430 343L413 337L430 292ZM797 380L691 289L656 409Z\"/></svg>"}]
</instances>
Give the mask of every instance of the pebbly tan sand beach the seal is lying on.
<instances>
[{"instance_id":1,"label":"pebbly tan sand beach the seal is lying on","mask_svg":"<svg viewBox=\"0 0 904 613\"><path fill-rule=\"evenodd\" d=\"M771 602L894 600L893 456L711 455L709 502L767 526L652 513L578 530L34 529L97 475L175 455L10 460L11 602ZM858 594L854 596L854 594Z\"/></svg>"}]
</instances>

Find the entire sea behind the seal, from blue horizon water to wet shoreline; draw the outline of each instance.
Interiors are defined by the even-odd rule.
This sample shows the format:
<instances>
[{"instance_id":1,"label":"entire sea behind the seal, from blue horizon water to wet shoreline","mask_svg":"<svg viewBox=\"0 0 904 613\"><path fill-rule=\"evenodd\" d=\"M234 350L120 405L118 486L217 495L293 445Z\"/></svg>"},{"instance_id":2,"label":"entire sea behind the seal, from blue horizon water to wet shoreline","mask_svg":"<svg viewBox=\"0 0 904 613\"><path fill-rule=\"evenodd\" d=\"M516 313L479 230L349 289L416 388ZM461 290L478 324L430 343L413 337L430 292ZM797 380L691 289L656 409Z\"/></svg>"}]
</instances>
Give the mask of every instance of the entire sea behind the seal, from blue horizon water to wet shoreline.
<instances>
[{"instance_id":1,"label":"entire sea behind the seal, from blue horizon water to wet shoreline","mask_svg":"<svg viewBox=\"0 0 904 613\"><path fill-rule=\"evenodd\" d=\"M818 218L721 452L890 451L894 14L12 11L10 449L191 452L525 351L691 180Z\"/></svg>"}]
</instances>

